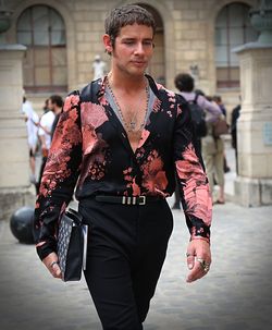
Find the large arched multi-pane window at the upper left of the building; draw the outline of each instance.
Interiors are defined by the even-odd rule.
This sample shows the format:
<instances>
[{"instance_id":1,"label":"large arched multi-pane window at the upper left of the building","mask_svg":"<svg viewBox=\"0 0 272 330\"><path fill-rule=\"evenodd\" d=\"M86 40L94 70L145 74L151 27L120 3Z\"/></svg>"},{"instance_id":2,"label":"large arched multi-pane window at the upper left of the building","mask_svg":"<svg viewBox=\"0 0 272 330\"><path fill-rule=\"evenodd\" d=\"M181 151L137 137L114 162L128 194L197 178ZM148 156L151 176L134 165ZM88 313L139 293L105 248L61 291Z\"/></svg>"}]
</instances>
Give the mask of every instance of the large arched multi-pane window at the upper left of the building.
<instances>
[{"instance_id":1,"label":"large arched multi-pane window at the upper left of the building","mask_svg":"<svg viewBox=\"0 0 272 330\"><path fill-rule=\"evenodd\" d=\"M17 20L17 42L27 47L23 63L24 88L30 93L66 91L64 21L48 5L26 9Z\"/></svg>"}]
</instances>

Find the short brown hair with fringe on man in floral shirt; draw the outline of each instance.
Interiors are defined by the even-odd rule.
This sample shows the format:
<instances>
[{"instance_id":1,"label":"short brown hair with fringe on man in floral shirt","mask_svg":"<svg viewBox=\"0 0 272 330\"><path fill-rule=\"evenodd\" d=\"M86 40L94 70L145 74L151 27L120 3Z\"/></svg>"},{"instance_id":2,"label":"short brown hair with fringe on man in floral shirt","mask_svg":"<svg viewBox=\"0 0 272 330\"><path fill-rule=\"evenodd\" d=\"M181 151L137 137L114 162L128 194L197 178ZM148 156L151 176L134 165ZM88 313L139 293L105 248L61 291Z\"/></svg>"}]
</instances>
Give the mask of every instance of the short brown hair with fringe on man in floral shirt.
<instances>
[{"instance_id":1,"label":"short brown hair with fringe on man in floral shirt","mask_svg":"<svg viewBox=\"0 0 272 330\"><path fill-rule=\"evenodd\" d=\"M156 23L152 14L140 5L127 4L113 9L104 21L104 32L111 38L114 48L115 39L122 27L133 24L152 27L156 33Z\"/></svg>"}]
</instances>

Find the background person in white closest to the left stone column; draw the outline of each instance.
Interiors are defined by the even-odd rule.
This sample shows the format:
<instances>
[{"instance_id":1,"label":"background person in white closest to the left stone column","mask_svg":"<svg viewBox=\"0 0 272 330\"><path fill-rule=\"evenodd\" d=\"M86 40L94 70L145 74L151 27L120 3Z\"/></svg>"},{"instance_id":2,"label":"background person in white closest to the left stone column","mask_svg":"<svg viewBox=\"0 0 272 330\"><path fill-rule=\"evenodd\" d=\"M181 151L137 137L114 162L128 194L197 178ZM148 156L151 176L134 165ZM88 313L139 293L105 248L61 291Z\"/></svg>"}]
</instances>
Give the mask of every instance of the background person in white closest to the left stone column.
<instances>
[{"instance_id":1,"label":"background person in white closest to the left stone column","mask_svg":"<svg viewBox=\"0 0 272 330\"><path fill-rule=\"evenodd\" d=\"M38 148L38 129L39 122L38 114L34 111L32 103L23 97L23 105L21 112L24 114L26 129L27 129L27 142L29 148L29 164L30 164L30 182L36 184L35 164L36 164L36 151Z\"/></svg>"}]
</instances>

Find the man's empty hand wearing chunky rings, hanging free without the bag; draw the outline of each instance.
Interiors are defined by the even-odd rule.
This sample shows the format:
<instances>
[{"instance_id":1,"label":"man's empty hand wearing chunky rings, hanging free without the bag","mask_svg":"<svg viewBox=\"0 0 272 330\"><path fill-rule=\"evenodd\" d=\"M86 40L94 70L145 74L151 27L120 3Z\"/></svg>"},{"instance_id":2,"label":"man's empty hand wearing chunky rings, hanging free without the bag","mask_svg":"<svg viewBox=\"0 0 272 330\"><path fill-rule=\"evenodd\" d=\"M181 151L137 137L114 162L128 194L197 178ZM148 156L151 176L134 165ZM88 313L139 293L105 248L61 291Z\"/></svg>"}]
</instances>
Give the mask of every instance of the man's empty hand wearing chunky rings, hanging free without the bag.
<instances>
[{"instance_id":1,"label":"man's empty hand wearing chunky rings, hanging free without the bag","mask_svg":"<svg viewBox=\"0 0 272 330\"><path fill-rule=\"evenodd\" d=\"M187 266L190 270L186 281L191 283L201 279L209 271L209 266L211 265L211 250L209 243L197 239L190 241L186 256ZM208 265L208 269L205 269L205 264Z\"/></svg>"}]
</instances>

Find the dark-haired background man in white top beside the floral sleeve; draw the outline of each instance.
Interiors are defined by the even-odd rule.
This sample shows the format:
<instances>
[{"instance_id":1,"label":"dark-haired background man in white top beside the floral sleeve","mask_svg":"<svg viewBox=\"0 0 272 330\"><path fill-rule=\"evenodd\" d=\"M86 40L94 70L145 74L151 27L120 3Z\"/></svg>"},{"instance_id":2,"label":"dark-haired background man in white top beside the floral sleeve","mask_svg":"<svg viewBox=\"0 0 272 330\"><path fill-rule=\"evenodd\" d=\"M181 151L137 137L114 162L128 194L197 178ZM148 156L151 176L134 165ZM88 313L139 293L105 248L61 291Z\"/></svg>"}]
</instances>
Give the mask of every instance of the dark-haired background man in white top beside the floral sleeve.
<instances>
[{"instance_id":1,"label":"dark-haired background man in white top beside the floral sleeve","mask_svg":"<svg viewBox=\"0 0 272 330\"><path fill-rule=\"evenodd\" d=\"M39 191L42 172L51 146L52 135L62 111L62 107L63 107L62 97L59 95L51 95L50 98L48 99L47 107L48 107L48 111L41 117L39 123L39 137L41 140L42 160L41 160L40 172L39 172L39 181L36 185L37 193Z\"/></svg>"}]
</instances>

